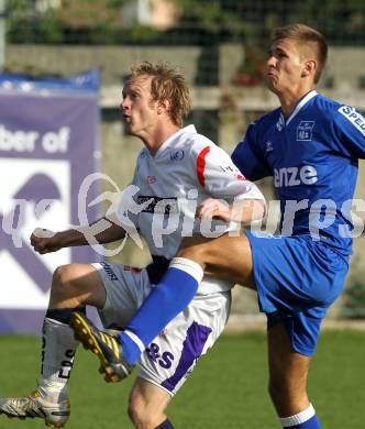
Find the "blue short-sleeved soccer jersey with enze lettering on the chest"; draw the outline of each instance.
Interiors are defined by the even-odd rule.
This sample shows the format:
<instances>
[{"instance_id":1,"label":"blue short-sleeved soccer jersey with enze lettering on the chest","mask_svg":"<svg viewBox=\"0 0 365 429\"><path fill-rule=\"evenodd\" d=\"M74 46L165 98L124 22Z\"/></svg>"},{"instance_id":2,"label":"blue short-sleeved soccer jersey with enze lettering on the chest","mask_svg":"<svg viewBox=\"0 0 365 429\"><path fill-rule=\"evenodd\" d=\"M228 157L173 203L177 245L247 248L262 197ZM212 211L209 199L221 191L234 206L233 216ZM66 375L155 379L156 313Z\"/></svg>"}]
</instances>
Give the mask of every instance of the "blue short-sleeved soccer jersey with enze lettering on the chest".
<instances>
[{"instance_id":1,"label":"blue short-sleeved soccer jersey with enze lettering on the chest","mask_svg":"<svg viewBox=\"0 0 365 429\"><path fill-rule=\"evenodd\" d=\"M247 178L274 177L283 234L324 237L344 256L352 248L357 160L364 157L364 118L316 90L289 118L276 109L251 124L232 154Z\"/></svg>"}]
</instances>

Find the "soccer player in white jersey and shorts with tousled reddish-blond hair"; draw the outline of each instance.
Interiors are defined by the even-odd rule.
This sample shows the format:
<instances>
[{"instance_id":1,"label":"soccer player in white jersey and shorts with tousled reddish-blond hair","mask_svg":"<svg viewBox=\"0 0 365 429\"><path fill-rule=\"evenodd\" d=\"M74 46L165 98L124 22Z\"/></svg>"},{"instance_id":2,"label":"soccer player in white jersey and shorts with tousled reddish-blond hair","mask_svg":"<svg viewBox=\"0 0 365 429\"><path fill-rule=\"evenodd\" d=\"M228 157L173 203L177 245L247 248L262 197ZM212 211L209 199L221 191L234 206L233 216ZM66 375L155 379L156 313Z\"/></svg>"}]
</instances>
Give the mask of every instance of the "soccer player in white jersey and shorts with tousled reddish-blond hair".
<instances>
[{"instance_id":1,"label":"soccer player in white jersey and shorts with tousled reddish-blond hair","mask_svg":"<svg viewBox=\"0 0 365 429\"><path fill-rule=\"evenodd\" d=\"M63 427L70 413L67 385L78 345L69 327L71 314L78 310L73 323L81 326L78 336L99 353L106 378L119 381L121 373L130 371L130 365L124 360L115 367L107 365L104 349L111 345L114 358L119 359L118 344L113 337L88 324L82 306L97 307L106 328L124 328L167 270L181 237L199 232L195 212L207 198L224 197L228 204L234 204L244 223L263 217L263 195L253 183L244 179L230 156L198 134L193 125L181 128L189 108L186 81L173 67L143 63L132 70L123 89L121 109L128 131L140 138L145 147L140 153L132 182L136 191L129 218L146 240L153 263L142 271L107 263L58 267L43 326L40 384L29 396L0 398L0 413L19 418L41 417L48 426ZM120 210L125 215L126 206ZM109 227L97 233L99 243L125 237L121 218L121 213L117 213L114 222L110 222L111 218L104 219ZM88 244L86 237L92 234L98 222L54 235L38 230L33 233L31 243L41 254ZM228 224L215 227L230 230ZM140 429L174 428L165 408L228 320L232 282L206 278L199 264L175 258L170 270L180 268L188 282L191 276L193 282L202 282L190 304L190 292L187 294L181 288L179 294L177 290L175 299L185 310L164 332L157 332L141 356L141 371L129 404L130 418ZM162 289L161 305L168 299L164 295Z\"/></svg>"}]
</instances>

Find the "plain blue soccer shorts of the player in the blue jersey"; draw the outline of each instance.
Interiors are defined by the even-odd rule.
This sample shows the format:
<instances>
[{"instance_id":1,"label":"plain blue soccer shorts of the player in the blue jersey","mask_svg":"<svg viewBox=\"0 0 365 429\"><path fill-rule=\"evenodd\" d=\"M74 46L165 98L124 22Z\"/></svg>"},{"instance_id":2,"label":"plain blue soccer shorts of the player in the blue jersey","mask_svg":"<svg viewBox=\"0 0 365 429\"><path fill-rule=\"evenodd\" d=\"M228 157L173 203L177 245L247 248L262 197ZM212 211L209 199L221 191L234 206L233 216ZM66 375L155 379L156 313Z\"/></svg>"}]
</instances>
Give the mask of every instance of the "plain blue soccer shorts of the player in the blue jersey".
<instances>
[{"instance_id":1,"label":"plain blue soccer shorts of the player in the blue jersey","mask_svg":"<svg viewBox=\"0 0 365 429\"><path fill-rule=\"evenodd\" d=\"M320 324L339 297L349 270L346 257L310 235L246 232L253 257L258 306L268 326L283 321L292 349L312 355Z\"/></svg>"}]
</instances>

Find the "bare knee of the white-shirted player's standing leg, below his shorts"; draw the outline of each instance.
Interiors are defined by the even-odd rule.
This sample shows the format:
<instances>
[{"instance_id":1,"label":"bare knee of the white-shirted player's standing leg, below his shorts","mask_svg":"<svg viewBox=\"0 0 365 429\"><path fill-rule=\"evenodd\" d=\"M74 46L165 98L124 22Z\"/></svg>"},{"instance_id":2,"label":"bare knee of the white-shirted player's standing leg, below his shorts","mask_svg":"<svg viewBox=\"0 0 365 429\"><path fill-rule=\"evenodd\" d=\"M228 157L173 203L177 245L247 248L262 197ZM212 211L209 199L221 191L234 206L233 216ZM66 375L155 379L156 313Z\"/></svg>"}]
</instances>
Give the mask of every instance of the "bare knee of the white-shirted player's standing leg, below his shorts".
<instances>
[{"instance_id":1,"label":"bare knee of the white-shirted player's standing leg, below his shorts","mask_svg":"<svg viewBox=\"0 0 365 429\"><path fill-rule=\"evenodd\" d=\"M159 386L136 377L129 403L131 418L153 421L154 427L164 419L172 396Z\"/></svg>"}]
</instances>

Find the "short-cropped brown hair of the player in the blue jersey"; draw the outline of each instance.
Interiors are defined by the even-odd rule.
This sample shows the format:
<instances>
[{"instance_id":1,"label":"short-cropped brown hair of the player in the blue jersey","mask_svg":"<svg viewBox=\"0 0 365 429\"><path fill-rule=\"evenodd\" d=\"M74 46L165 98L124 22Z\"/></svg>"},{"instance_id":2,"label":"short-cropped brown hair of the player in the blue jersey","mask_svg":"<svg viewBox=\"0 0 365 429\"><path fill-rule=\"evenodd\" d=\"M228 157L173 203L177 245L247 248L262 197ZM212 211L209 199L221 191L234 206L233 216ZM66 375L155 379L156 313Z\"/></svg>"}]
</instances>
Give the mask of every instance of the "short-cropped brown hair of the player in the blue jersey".
<instances>
[{"instance_id":1,"label":"short-cropped brown hair of the player in the blue jersey","mask_svg":"<svg viewBox=\"0 0 365 429\"><path fill-rule=\"evenodd\" d=\"M317 30L306 24L290 24L274 30L273 42L278 42L284 38L291 38L302 43L313 43L316 46L316 57L318 67L314 75L317 84L321 77L328 56L328 44L324 36Z\"/></svg>"}]
</instances>

